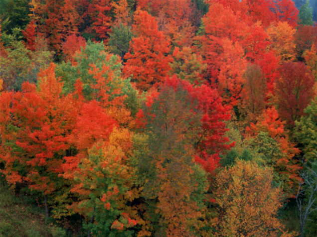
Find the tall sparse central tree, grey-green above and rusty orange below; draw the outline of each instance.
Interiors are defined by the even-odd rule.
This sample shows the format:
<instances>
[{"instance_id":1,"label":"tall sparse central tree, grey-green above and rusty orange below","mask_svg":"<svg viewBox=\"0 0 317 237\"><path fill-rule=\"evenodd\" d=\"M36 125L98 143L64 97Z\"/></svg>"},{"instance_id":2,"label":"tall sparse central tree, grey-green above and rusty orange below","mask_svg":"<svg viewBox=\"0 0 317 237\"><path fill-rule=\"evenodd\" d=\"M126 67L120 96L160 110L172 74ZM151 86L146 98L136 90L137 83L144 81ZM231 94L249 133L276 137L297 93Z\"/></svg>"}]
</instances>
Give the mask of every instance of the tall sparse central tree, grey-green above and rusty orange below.
<instances>
[{"instance_id":1,"label":"tall sparse central tree, grey-green above and rusty orange below","mask_svg":"<svg viewBox=\"0 0 317 237\"><path fill-rule=\"evenodd\" d=\"M147 149L138 156L145 216L154 235L190 237L203 227L207 188L205 172L194 163L202 114L189 83L172 77L159 89L139 113L147 135Z\"/></svg>"}]
</instances>

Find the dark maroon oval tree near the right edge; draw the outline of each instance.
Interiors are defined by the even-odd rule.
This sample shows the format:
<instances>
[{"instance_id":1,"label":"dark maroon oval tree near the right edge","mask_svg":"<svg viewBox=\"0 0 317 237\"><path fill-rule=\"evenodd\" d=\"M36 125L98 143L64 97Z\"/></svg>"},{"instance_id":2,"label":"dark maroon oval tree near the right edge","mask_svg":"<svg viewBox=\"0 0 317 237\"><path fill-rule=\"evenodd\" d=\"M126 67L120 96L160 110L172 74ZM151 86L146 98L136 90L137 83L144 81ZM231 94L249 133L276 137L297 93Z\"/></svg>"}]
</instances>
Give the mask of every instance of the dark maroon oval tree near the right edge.
<instances>
[{"instance_id":1,"label":"dark maroon oval tree near the right edge","mask_svg":"<svg viewBox=\"0 0 317 237\"><path fill-rule=\"evenodd\" d=\"M315 79L312 72L301 62L284 63L281 78L276 80L275 94L282 119L294 126L294 121L304 114L314 96Z\"/></svg>"}]
</instances>

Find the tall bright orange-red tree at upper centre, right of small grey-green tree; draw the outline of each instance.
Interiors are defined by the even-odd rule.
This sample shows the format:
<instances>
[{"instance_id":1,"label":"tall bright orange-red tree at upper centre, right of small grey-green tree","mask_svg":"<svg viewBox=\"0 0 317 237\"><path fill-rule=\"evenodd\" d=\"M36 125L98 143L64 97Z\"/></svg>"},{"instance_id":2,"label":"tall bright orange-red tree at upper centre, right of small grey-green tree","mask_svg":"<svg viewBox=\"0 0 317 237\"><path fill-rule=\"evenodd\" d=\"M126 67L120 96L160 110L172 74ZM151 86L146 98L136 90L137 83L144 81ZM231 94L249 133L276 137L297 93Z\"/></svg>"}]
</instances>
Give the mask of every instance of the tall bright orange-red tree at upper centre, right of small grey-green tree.
<instances>
[{"instance_id":1,"label":"tall bright orange-red tree at upper centre, right of small grey-green tree","mask_svg":"<svg viewBox=\"0 0 317 237\"><path fill-rule=\"evenodd\" d=\"M132 38L123 73L125 77L132 76L132 82L140 90L148 90L153 85L163 82L170 70L169 41L159 31L156 19L148 12L137 10Z\"/></svg>"}]
</instances>

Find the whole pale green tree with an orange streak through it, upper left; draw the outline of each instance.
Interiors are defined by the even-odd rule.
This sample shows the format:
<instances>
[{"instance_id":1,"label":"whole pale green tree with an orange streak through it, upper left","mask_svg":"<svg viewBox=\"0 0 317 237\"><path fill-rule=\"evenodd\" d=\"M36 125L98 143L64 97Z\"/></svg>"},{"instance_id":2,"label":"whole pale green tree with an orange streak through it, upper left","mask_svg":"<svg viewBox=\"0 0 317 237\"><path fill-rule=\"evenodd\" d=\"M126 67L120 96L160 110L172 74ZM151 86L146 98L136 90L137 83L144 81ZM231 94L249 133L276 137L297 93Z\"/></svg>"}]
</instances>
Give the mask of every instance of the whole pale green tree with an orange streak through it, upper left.
<instances>
[{"instance_id":1,"label":"whole pale green tree with an orange streak through it, upper left","mask_svg":"<svg viewBox=\"0 0 317 237\"><path fill-rule=\"evenodd\" d=\"M76 81L80 79L83 87L82 94L86 100L97 100L108 113L120 124L128 124L131 111L136 113L136 90L129 79L121 75L121 62L117 55L104 50L104 44L88 41L85 48L75 55L73 63L63 62L56 68L56 75L64 82L63 92L66 94L76 91Z\"/></svg>"}]
</instances>

